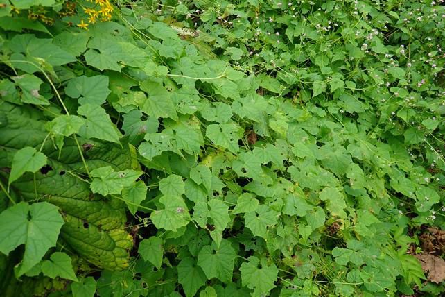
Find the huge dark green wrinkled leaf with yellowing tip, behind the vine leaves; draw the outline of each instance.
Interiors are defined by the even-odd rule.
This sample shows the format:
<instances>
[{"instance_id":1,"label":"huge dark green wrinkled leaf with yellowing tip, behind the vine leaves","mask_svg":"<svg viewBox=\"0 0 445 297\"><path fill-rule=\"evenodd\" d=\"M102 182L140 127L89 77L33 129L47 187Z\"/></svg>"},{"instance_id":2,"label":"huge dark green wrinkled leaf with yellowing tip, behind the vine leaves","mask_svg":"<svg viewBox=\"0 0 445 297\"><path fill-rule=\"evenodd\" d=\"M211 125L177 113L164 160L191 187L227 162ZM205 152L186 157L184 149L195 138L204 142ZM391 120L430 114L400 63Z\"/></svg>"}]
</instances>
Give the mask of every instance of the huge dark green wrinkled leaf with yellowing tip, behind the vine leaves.
<instances>
[{"instance_id":1,"label":"huge dark green wrinkled leaf with yellowing tip, behind the vine leaves","mask_svg":"<svg viewBox=\"0 0 445 297\"><path fill-rule=\"evenodd\" d=\"M0 116L8 123L0 126L0 166L10 167L17 150L24 146L40 147L47 133L40 121L42 114L35 110L3 103ZM46 142L42 148L48 157L46 170L25 173L11 185L12 192L25 200L35 199L37 193L60 207L65 220L60 237L73 251L104 269L125 269L132 238L124 230L123 202L107 201L91 192L89 183L77 176L86 170L76 143L73 139L65 142L60 152ZM130 146L122 148L82 138L78 142L90 171L107 166L114 171L137 169L132 165L136 156Z\"/></svg>"}]
</instances>

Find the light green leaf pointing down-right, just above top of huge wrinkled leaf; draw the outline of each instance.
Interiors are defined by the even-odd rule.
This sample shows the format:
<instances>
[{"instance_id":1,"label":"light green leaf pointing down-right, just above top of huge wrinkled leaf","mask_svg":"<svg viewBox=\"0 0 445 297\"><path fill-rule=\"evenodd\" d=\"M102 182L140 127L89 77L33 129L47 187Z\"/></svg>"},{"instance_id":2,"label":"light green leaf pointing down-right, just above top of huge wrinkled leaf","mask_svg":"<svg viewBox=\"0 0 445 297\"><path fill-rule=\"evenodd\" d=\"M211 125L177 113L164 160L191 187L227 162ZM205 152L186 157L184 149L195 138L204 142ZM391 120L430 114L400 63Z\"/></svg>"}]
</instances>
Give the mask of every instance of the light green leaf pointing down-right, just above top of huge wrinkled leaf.
<instances>
[{"instance_id":1,"label":"light green leaf pointing down-right, just above top of huge wrinkled leaf","mask_svg":"<svg viewBox=\"0 0 445 297\"><path fill-rule=\"evenodd\" d=\"M97 105L85 104L78 108L78 114L86 118L79 135L85 138L97 138L119 144L121 133L116 129L110 116Z\"/></svg>"}]
</instances>

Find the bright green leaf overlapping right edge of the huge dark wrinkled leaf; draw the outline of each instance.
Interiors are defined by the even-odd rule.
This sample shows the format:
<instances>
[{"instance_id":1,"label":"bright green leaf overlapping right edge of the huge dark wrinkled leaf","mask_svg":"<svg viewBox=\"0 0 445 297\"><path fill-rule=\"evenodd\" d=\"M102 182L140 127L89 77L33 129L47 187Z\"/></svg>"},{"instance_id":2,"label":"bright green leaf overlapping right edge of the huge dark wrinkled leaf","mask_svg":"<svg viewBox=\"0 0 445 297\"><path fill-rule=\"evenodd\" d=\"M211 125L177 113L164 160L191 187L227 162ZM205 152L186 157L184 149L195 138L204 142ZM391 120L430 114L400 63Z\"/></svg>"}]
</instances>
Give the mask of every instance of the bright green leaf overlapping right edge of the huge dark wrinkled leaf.
<instances>
[{"instance_id":1,"label":"bright green leaf overlapping right edge of the huge dark wrinkled leaf","mask_svg":"<svg viewBox=\"0 0 445 297\"><path fill-rule=\"evenodd\" d=\"M132 169L114 172L111 166L94 169L90 172L91 178L93 178L90 184L91 191L103 196L121 194L122 189L133 185L142 173L142 171Z\"/></svg>"}]
</instances>

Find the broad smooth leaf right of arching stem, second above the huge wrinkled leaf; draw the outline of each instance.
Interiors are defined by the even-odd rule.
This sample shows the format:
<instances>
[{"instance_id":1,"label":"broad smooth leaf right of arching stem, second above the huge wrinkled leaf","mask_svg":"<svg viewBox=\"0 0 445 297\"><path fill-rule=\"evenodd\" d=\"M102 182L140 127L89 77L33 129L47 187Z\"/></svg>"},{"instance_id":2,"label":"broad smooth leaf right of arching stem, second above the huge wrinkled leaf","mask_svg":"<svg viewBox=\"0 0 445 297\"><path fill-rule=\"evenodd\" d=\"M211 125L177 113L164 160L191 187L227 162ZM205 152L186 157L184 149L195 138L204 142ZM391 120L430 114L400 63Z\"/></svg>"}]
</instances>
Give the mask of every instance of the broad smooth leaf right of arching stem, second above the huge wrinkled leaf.
<instances>
[{"instance_id":1,"label":"broad smooth leaf right of arching stem, second above the huge wrinkled leaf","mask_svg":"<svg viewBox=\"0 0 445 297\"><path fill-rule=\"evenodd\" d=\"M80 105L101 105L110 94L108 76L78 76L71 78L65 87L65 94L71 98L78 98Z\"/></svg>"}]
</instances>

